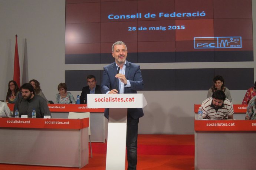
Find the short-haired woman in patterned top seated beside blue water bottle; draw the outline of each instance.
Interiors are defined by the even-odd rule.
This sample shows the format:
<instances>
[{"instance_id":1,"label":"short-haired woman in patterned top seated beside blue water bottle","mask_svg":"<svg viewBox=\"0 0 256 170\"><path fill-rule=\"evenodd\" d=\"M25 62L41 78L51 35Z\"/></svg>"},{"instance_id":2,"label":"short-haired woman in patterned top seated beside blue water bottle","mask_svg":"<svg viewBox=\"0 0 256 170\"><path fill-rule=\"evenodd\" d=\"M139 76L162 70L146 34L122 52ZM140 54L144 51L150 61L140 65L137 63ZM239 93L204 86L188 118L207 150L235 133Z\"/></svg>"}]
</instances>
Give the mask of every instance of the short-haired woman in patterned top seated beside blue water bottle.
<instances>
[{"instance_id":1,"label":"short-haired woman in patterned top seated beside blue water bottle","mask_svg":"<svg viewBox=\"0 0 256 170\"><path fill-rule=\"evenodd\" d=\"M56 94L56 102L58 104L76 103L74 96L70 92L67 92L66 83L60 83L58 85L58 91L59 93Z\"/></svg>"}]
</instances>

